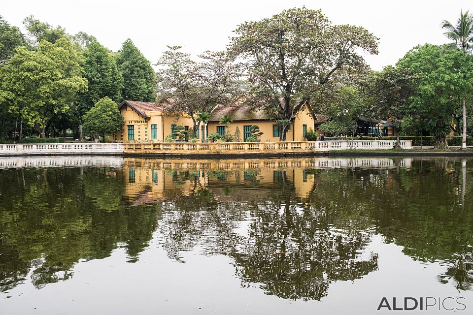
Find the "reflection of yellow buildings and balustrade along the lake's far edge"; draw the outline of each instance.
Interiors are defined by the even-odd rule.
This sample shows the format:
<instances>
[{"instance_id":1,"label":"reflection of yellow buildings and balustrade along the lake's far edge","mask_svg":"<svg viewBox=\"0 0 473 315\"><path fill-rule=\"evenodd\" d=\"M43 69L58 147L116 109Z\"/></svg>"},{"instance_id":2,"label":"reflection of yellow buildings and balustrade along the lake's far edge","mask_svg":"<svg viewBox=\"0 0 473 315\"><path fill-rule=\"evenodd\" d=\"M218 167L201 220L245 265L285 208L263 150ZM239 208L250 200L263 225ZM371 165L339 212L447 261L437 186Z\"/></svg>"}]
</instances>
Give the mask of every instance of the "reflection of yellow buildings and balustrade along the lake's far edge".
<instances>
[{"instance_id":1,"label":"reflection of yellow buildings and balustrade along the lake's far edge","mask_svg":"<svg viewBox=\"0 0 473 315\"><path fill-rule=\"evenodd\" d=\"M221 201L259 201L282 186L304 198L314 189L317 169L410 167L412 162L410 158L125 160L125 197L133 204L194 195L199 189L210 189Z\"/></svg>"}]
</instances>

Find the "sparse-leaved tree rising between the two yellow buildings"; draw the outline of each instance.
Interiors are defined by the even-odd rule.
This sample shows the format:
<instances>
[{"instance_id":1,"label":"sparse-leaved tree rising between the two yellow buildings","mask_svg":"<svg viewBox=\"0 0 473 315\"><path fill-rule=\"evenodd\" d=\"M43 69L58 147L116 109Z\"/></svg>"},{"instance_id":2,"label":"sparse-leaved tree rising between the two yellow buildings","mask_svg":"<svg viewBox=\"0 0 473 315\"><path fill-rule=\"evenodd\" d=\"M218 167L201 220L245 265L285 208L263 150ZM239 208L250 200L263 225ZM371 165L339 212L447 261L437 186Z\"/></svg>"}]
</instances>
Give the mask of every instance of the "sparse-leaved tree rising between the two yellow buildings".
<instances>
[{"instance_id":1,"label":"sparse-leaved tree rising between the two yellow buildings","mask_svg":"<svg viewBox=\"0 0 473 315\"><path fill-rule=\"evenodd\" d=\"M242 94L242 82L237 65L226 52L206 51L200 63L180 51L181 46L168 46L158 61L158 92L160 98L173 98L170 112L184 112L193 120L196 132L198 113L208 113L217 104L233 102Z\"/></svg>"}]
</instances>

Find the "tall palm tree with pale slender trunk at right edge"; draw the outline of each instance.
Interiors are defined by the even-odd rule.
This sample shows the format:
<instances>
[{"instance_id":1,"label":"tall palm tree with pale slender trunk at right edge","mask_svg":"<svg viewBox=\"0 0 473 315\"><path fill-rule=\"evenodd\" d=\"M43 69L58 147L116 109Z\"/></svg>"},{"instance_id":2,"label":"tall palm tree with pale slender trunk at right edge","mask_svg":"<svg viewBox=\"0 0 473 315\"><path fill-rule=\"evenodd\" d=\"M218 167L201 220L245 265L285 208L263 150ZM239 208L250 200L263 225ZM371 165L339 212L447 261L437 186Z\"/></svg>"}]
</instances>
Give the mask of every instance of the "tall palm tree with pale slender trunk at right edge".
<instances>
[{"instance_id":1,"label":"tall palm tree with pale slender trunk at right edge","mask_svg":"<svg viewBox=\"0 0 473 315\"><path fill-rule=\"evenodd\" d=\"M465 52L469 51L473 47L473 15L469 14L467 10L463 13L463 9L460 13L455 25L448 22L447 20L442 21L442 29L446 30L443 34L449 39L455 41L455 43ZM463 139L462 148L467 148L467 108L465 104L465 98L462 100L463 105Z\"/></svg>"}]
</instances>

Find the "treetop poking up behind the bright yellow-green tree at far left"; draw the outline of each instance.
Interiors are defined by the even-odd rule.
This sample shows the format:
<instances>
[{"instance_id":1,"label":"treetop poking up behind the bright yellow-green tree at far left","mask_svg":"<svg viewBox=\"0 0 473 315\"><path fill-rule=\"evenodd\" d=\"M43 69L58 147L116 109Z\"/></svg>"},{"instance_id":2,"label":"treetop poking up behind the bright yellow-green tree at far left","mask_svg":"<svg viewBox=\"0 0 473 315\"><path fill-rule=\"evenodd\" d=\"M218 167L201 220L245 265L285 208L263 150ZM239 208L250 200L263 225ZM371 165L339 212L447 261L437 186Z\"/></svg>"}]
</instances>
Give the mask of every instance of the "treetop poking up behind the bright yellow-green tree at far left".
<instances>
[{"instance_id":1,"label":"treetop poking up behind the bright yellow-green tree at far left","mask_svg":"<svg viewBox=\"0 0 473 315\"><path fill-rule=\"evenodd\" d=\"M53 28L50 24L34 18L34 15L26 17L23 20L23 25L29 33L31 46L38 45L41 40L46 40L54 44L59 38L69 37L63 27L58 25L56 28Z\"/></svg>"}]
</instances>

